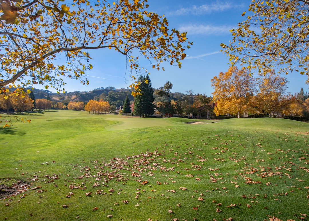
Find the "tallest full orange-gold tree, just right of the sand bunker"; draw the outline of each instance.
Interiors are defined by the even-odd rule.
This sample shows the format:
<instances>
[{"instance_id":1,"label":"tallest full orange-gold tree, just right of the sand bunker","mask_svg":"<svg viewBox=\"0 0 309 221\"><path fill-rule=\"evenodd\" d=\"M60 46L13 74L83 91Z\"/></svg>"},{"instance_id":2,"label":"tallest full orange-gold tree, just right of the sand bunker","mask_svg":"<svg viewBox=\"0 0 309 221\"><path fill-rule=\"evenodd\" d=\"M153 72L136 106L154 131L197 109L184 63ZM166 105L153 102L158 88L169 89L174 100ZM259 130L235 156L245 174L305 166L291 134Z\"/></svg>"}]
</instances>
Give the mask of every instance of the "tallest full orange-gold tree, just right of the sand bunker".
<instances>
[{"instance_id":1,"label":"tallest full orange-gold tree, just right of the sand bunker","mask_svg":"<svg viewBox=\"0 0 309 221\"><path fill-rule=\"evenodd\" d=\"M230 67L227 72L220 72L210 81L214 88L214 113L217 116L237 114L240 118L241 113L248 112L248 103L256 92L256 80L244 67Z\"/></svg>"}]
</instances>

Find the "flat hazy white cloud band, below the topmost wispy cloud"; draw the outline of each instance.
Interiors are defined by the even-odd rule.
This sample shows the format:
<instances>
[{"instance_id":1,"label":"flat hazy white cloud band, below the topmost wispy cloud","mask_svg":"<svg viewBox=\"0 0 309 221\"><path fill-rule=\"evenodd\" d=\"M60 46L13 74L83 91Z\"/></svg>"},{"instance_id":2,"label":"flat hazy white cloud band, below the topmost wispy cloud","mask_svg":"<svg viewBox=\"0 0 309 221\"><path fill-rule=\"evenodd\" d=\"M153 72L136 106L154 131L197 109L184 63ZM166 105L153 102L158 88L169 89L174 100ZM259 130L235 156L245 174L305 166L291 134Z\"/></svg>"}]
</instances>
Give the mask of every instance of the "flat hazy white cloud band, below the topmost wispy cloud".
<instances>
[{"instance_id":1,"label":"flat hazy white cloud band, below the topmost wispy cloud","mask_svg":"<svg viewBox=\"0 0 309 221\"><path fill-rule=\"evenodd\" d=\"M214 25L184 25L178 28L180 32L187 32L190 34L198 35L228 35L232 26L214 26Z\"/></svg>"}]
</instances>

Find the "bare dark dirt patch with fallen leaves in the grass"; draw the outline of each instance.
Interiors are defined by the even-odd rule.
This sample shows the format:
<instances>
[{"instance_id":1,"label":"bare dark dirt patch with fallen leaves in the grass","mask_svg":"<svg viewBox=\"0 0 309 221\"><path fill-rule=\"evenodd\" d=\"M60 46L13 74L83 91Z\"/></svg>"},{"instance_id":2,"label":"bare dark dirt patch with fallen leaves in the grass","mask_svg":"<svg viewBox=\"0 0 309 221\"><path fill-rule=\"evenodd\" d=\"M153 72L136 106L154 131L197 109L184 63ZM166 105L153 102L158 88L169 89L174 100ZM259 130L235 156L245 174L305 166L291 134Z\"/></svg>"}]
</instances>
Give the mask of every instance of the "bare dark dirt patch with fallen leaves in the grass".
<instances>
[{"instance_id":1,"label":"bare dark dirt patch with fallen leaves in the grass","mask_svg":"<svg viewBox=\"0 0 309 221\"><path fill-rule=\"evenodd\" d=\"M0 199L6 199L26 192L29 187L30 184L22 180L2 179L0 180Z\"/></svg>"}]
</instances>

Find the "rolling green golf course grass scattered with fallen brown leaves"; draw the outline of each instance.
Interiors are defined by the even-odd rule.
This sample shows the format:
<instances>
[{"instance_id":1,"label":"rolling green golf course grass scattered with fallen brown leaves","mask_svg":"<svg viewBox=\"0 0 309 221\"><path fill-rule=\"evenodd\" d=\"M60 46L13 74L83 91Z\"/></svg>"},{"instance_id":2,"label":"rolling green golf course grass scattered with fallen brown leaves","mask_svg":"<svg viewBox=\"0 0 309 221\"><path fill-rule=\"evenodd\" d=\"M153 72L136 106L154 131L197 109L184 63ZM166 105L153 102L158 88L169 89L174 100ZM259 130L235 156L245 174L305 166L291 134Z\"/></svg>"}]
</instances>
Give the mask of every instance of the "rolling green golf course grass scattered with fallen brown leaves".
<instances>
[{"instance_id":1,"label":"rolling green golf course grass scattered with fallen brown leaves","mask_svg":"<svg viewBox=\"0 0 309 221\"><path fill-rule=\"evenodd\" d=\"M192 120L84 111L22 117L32 122L0 130L0 185L31 187L0 200L0 219L298 220L308 213L307 123L183 124Z\"/></svg>"}]
</instances>

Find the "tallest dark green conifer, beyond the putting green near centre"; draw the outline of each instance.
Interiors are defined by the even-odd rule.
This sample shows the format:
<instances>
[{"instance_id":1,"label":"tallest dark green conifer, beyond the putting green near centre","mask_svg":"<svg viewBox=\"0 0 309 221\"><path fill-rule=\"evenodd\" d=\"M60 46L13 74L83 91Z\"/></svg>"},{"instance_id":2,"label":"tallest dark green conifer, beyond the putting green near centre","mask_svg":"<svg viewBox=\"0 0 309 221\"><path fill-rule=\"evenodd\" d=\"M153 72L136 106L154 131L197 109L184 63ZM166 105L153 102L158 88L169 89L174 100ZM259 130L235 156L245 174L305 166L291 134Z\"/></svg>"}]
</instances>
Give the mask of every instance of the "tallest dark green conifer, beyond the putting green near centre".
<instances>
[{"instance_id":1,"label":"tallest dark green conifer, beyond the putting green near centre","mask_svg":"<svg viewBox=\"0 0 309 221\"><path fill-rule=\"evenodd\" d=\"M137 95L134 98L134 114L140 117L143 115L152 115L155 113L155 104L153 103L155 98L153 96L154 91L151 87L151 81L148 75L146 77L141 75L138 80L143 82L139 86L142 95Z\"/></svg>"}]
</instances>

